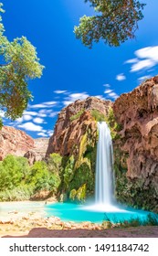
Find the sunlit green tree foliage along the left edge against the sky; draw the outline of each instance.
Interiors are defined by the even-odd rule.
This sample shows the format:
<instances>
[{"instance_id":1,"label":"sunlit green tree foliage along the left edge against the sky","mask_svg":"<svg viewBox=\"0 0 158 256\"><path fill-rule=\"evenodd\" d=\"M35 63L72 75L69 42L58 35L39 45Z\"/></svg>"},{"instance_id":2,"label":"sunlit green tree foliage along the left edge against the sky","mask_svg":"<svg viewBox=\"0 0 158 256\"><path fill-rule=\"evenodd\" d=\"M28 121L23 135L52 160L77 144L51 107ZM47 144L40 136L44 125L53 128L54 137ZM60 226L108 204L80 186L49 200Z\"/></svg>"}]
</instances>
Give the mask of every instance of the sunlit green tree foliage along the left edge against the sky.
<instances>
[{"instance_id":1,"label":"sunlit green tree foliage along the left edge against the sky","mask_svg":"<svg viewBox=\"0 0 158 256\"><path fill-rule=\"evenodd\" d=\"M0 3L0 109L6 117L15 120L22 116L32 98L28 80L40 78L44 67L39 63L36 48L26 37L17 37L12 42L5 37L2 7Z\"/></svg>"}]
</instances>

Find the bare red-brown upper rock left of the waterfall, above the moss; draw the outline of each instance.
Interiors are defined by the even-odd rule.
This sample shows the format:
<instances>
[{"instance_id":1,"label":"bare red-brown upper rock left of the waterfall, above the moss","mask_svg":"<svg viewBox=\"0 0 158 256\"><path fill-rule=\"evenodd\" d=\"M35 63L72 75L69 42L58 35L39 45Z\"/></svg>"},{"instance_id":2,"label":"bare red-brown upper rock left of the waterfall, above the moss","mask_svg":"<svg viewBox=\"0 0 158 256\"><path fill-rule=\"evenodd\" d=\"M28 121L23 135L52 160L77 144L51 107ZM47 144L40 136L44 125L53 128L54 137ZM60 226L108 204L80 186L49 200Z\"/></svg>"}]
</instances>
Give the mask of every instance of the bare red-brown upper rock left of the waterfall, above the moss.
<instances>
[{"instance_id":1,"label":"bare red-brown upper rock left of the waterfall, above the moss","mask_svg":"<svg viewBox=\"0 0 158 256\"><path fill-rule=\"evenodd\" d=\"M75 101L69 104L58 114L54 134L49 139L47 155L51 153L78 154L78 145L82 135L89 128L90 131L96 133L96 123L92 119L90 111L97 110L106 116L111 105L111 101L102 101L96 97L89 97L84 101ZM79 113L80 115L75 118Z\"/></svg>"}]
</instances>

